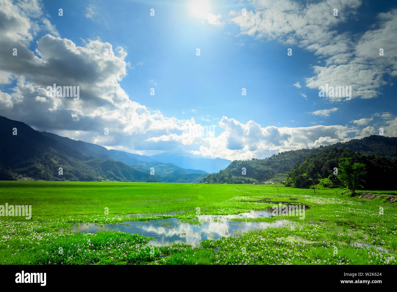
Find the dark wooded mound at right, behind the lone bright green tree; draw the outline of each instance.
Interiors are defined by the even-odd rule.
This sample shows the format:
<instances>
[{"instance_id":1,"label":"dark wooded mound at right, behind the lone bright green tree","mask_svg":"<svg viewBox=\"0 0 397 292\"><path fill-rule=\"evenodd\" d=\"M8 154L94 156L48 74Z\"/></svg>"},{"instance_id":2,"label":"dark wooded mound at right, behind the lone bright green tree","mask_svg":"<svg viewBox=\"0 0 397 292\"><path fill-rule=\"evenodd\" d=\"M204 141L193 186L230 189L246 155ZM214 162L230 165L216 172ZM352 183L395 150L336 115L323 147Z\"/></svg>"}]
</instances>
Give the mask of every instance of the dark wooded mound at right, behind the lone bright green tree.
<instances>
[{"instance_id":1,"label":"dark wooded mound at right, behind the lone bright green tree","mask_svg":"<svg viewBox=\"0 0 397 292\"><path fill-rule=\"evenodd\" d=\"M351 160L349 159L351 158ZM350 149L333 148L310 155L303 162L298 161L287 174L285 186L312 188L343 186L339 163L349 159L351 163L364 164L362 187L365 190L396 190L397 160L376 155L364 155ZM322 180L320 182L320 180Z\"/></svg>"}]
</instances>

